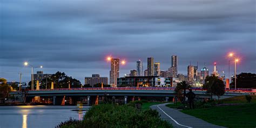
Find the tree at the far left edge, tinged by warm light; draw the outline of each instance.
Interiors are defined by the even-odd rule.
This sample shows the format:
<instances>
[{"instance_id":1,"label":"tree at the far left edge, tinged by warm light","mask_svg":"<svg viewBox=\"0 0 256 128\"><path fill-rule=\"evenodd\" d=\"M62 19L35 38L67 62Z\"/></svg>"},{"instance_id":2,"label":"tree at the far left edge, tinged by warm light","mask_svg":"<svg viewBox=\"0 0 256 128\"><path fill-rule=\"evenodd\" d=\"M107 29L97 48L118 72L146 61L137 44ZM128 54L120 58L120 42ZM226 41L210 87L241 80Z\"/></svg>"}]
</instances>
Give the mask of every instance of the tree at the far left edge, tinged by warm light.
<instances>
[{"instance_id":1,"label":"tree at the far left edge, tinged by warm light","mask_svg":"<svg viewBox=\"0 0 256 128\"><path fill-rule=\"evenodd\" d=\"M2 98L9 97L9 92L11 91L11 87L6 83L7 80L5 78L0 78L0 93L2 94Z\"/></svg>"}]
</instances>

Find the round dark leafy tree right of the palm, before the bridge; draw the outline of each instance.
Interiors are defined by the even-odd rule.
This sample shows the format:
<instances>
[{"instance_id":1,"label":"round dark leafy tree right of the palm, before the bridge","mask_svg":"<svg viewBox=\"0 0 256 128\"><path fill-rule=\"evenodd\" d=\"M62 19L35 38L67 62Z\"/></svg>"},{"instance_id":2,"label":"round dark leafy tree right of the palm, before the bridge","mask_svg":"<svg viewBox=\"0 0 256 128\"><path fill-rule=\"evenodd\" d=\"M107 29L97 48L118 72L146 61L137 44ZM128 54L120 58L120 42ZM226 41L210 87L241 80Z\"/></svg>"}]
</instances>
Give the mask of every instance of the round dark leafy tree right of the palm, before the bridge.
<instances>
[{"instance_id":1,"label":"round dark leafy tree right of the palm, before the bridge","mask_svg":"<svg viewBox=\"0 0 256 128\"><path fill-rule=\"evenodd\" d=\"M223 80L215 76L207 76L203 88L206 89L206 93L212 96L218 96L218 98L225 93L225 84Z\"/></svg>"}]
</instances>

